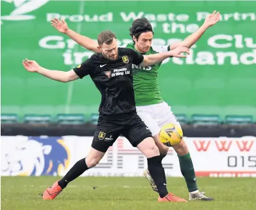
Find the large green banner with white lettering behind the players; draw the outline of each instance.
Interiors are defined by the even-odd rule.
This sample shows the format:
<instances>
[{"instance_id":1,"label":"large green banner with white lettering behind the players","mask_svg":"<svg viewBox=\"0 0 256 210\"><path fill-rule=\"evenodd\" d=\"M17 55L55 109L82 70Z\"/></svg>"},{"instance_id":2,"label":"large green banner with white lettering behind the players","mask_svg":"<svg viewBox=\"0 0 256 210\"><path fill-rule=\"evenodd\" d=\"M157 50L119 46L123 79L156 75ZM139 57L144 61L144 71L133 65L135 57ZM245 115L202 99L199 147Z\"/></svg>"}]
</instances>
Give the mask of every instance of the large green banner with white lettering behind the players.
<instances>
[{"instance_id":1,"label":"large green banner with white lettering behind the players","mask_svg":"<svg viewBox=\"0 0 256 210\"><path fill-rule=\"evenodd\" d=\"M47 69L70 70L93 53L58 33L50 20L96 39L114 31L131 42L132 21L146 17L154 44L183 40L214 10L221 20L191 48L187 59L170 58L159 70L164 100L175 113L256 116L255 1L1 1L2 113L97 113L100 94L90 78L51 81L23 69L36 60Z\"/></svg>"}]
</instances>

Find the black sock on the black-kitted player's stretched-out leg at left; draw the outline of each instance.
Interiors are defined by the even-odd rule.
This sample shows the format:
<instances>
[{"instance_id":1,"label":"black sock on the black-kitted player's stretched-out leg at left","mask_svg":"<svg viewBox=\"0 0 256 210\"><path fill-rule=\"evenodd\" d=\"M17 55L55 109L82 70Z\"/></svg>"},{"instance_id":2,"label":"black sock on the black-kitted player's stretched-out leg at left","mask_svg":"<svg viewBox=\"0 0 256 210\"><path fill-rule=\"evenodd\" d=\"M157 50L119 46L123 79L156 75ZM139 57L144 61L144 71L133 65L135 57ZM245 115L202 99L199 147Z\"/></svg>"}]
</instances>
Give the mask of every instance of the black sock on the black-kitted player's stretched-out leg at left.
<instances>
[{"instance_id":1,"label":"black sock on the black-kitted player's stretched-out leg at left","mask_svg":"<svg viewBox=\"0 0 256 210\"><path fill-rule=\"evenodd\" d=\"M67 172L67 174L58 181L58 185L62 188L62 190L69 184L69 182L73 181L77 177L79 177L83 172L88 170L85 163L85 158L80 159L80 161L77 161L76 164Z\"/></svg>"}]
</instances>

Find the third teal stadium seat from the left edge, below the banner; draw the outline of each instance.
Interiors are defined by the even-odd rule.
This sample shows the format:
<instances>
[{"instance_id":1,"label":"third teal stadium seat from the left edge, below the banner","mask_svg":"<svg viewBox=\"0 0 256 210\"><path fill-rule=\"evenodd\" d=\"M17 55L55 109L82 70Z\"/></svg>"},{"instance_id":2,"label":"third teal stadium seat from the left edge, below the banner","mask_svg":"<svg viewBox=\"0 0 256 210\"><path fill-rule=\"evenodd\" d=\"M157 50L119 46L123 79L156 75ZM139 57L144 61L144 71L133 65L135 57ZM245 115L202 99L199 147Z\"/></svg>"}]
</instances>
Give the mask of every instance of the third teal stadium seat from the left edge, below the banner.
<instances>
[{"instance_id":1,"label":"third teal stadium seat from the left edge, below the banner","mask_svg":"<svg viewBox=\"0 0 256 210\"><path fill-rule=\"evenodd\" d=\"M86 119L83 114L58 114L56 122L62 125L81 125L85 124Z\"/></svg>"}]
</instances>

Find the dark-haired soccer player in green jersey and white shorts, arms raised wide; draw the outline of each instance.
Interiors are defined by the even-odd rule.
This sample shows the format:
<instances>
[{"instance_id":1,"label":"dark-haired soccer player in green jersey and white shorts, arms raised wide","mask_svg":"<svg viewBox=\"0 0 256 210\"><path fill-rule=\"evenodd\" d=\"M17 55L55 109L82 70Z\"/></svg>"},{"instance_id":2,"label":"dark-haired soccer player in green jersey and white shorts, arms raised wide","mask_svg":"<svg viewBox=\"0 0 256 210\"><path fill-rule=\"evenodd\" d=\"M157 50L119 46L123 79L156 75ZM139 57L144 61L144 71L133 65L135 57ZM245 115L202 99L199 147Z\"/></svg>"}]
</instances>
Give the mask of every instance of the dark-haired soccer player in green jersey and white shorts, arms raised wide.
<instances>
[{"instance_id":1,"label":"dark-haired soccer player in green jersey and white shorts, arms raised wide","mask_svg":"<svg viewBox=\"0 0 256 210\"><path fill-rule=\"evenodd\" d=\"M205 22L198 31L187 36L182 42L177 42L172 45L157 46L151 45L153 40L153 28L149 21L146 18L136 19L133 21L132 27L130 28L130 35L132 36L133 43L122 45L121 47L127 47L145 55L170 51L180 46L190 48L200 39L203 33L205 33L210 26L216 24L219 19L220 13L214 11L205 19ZM97 42L69 29L64 19L53 19L51 20L51 25L61 33L65 33L86 49L99 53ZM159 139L160 128L167 123L173 123L179 126L180 124L171 111L171 107L164 102L160 95L160 88L158 85L158 69L160 68L160 65L161 63L149 67L133 65L133 88L135 91L137 113L149 127L155 143L160 150L160 154L162 158L164 158L169 147L164 145ZM178 154L180 170L185 178L187 189L189 191L189 200L214 200L213 198L205 196L203 192L198 190L192 159L185 141L182 139L178 145L173 146L173 149ZM154 191L158 191L148 169L144 171L144 176L151 184L151 188Z\"/></svg>"}]
</instances>

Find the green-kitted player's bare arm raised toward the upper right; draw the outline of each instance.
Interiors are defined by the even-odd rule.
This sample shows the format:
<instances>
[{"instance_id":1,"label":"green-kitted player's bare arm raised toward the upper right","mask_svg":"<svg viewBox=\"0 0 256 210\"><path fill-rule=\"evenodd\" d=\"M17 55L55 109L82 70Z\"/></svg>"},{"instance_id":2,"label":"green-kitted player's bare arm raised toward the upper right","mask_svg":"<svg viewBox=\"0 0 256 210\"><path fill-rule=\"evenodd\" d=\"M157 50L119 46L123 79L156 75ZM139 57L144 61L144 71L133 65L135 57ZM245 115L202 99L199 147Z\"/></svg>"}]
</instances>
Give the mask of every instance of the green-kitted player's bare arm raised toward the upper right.
<instances>
[{"instance_id":1,"label":"green-kitted player's bare arm raised toward the upper right","mask_svg":"<svg viewBox=\"0 0 256 210\"><path fill-rule=\"evenodd\" d=\"M196 31L195 33L192 33L191 35L187 36L185 40L182 42L177 42L175 44L170 45L170 49L175 49L176 47L184 46L190 48L192 45L194 45L205 33L205 31L210 28L210 26L214 26L220 19L220 13L214 10L212 14L210 14L206 19L203 25Z\"/></svg>"}]
</instances>

